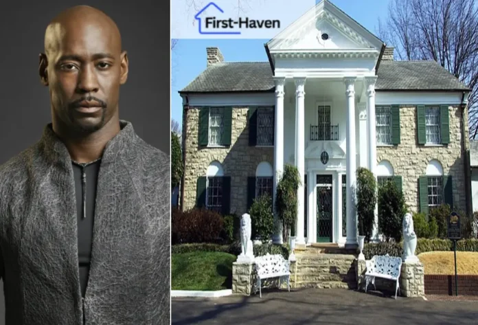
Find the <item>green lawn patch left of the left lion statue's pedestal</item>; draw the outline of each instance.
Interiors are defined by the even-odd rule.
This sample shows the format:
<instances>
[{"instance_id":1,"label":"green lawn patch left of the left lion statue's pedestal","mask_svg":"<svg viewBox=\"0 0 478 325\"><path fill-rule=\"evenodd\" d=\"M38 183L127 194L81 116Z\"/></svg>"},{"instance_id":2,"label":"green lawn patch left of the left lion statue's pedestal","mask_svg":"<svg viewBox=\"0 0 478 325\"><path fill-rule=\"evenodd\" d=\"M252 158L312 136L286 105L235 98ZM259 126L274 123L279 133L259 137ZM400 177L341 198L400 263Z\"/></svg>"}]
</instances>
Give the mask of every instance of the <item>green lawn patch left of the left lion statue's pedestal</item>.
<instances>
[{"instance_id":1,"label":"green lawn patch left of the left lion statue's pedestal","mask_svg":"<svg viewBox=\"0 0 478 325\"><path fill-rule=\"evenodd\" d=\"M172 254L172 290L222 290L232 287L236 256L218 251Z\"/></svg>"}]
</instances>

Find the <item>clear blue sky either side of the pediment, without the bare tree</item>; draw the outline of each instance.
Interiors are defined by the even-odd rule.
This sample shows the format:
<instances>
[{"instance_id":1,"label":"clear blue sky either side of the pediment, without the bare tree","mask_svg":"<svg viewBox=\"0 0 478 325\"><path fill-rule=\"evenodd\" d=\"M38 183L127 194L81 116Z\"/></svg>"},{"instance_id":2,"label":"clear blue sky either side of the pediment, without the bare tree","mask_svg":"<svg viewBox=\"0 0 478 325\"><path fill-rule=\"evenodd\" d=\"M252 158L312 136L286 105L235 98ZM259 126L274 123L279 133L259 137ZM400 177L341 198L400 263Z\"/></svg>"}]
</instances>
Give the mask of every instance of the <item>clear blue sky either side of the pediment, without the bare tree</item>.
<instances>
[{"instance_id":1,"label":"clear blue sky either side of the pediment, without the bare tree","mask_svg":"<svg viewBox=\"0 0 478 325\"><path fill-rule=\"evenodd\" d=\"M299 1L299 0L295 0ZM378 17L385 19L389 0L331 0L341 10L376 33ZM298 17L297 17L298 18ZM171 53L171 118L182 123L178 91L206 69L206 47L219 47L225 61L267 61L269 39L181 39Z\"/></svg>"}]
</instances>

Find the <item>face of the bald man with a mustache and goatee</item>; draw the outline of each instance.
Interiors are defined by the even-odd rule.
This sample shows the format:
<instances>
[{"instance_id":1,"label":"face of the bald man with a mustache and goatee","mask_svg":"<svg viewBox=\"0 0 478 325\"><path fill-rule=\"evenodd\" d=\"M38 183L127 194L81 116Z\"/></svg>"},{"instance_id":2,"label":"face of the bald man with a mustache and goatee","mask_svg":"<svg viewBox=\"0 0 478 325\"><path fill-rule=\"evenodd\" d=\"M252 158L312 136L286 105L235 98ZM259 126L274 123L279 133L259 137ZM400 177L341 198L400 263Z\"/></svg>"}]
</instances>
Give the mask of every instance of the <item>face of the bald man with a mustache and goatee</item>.
<instances>
[{"instance_id":1,"label":"face of the bald man with a mustache and goatee","mask_svg":"<svg viewBox=\"0 0 478 325\"><path fill-rule=\"evenodd\" d=\"M126 82L127 57L111 28L69 21L52 26L42 80L49 86L52 113L71 131L98 131L117 114L120 85Z\"/></svg>"}]
</instances>

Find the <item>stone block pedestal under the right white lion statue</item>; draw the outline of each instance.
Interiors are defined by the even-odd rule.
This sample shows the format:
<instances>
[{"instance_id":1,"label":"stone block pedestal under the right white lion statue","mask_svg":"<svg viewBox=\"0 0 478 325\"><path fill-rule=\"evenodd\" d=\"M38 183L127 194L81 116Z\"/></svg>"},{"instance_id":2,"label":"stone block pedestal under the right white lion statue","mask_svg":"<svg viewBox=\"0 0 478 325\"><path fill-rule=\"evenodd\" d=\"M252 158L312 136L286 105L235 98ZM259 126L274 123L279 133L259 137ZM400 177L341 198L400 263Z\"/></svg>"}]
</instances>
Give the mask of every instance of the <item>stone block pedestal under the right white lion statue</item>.
<instances>
[{"instance_id":1,"label":"stone block pedestal under the right white lion statue","mask_svg":"<svg viewBox=\"0 0 478 325\"><path fill-rule=\"evenodd\" d=\"M422 263L402 263L400 271L400 292L404 297L423 297L425 295L424 269Z\"/></svg>"}]
</instances>

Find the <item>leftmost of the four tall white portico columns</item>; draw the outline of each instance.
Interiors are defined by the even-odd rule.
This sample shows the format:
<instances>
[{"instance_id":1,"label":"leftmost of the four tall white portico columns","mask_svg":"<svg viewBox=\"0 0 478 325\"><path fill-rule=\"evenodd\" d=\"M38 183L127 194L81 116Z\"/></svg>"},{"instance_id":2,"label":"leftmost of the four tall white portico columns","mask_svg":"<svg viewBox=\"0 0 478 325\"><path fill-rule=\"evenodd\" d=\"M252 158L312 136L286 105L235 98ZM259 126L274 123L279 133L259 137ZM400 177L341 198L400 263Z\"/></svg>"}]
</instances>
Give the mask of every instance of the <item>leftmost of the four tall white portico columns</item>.
<instances>
[{"instance_id":1,"label":"leftmost of the four tall white portico columns","mask_svg":"<svg viewBox=\"0 0 478 325\"><path fill-rule=\"evenodd\" d=\"M275 126L274 126L274 181L273 181L273 206L275 206L275 194L277 183L284 171L284 83L285 78L276 78L275 82ZM275 217L275 235L273 243L282 244L282 223Z\"/></svg>"}]
</instances>

